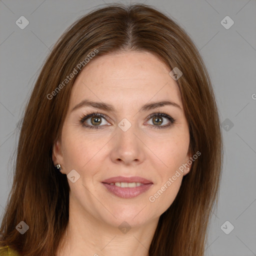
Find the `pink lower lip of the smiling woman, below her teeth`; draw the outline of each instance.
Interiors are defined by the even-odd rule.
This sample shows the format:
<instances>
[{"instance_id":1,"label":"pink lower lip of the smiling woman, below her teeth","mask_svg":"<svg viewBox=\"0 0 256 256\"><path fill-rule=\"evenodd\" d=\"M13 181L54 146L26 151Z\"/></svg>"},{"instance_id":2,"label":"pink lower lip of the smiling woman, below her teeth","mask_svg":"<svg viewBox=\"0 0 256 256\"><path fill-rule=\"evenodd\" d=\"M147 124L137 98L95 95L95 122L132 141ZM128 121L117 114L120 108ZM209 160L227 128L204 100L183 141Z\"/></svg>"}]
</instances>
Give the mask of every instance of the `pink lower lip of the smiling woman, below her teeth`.
<instances>
[{"instance_id":1,"label":"pink lower lip of the smiling woman, below her teeth","mask_svg":"<svg viewBox=\"0 0 256 256\"><path fill-rule=\"evenodd\" d=\"M153 183L141 184L136 187L119 187L116 185L110 185L108 183L102 183L109 192L113 193L116 196L122 198L132 198L135 197L150 188Z\"/></svg>"}]
</instances>

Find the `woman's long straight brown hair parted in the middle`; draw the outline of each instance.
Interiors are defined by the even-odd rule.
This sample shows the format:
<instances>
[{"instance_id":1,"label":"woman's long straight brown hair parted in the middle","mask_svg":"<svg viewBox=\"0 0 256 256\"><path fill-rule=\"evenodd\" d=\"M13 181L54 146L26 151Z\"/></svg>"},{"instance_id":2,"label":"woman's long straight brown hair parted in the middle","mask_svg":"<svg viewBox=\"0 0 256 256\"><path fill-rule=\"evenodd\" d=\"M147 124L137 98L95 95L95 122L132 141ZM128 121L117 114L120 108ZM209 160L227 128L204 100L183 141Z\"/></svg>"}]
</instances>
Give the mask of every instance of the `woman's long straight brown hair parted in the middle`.
<instances>
[{"instance_id":1,"label":"woman's long straight brown hair parted in the middle","mask_svg":"<svg viewBox=\"0 0 256 256\"><path fill-rule=\"evenodd\" d=\"M170 69L182 71L177 84L189 125L189 149L201 156L161 214L149 255L202 256L222 166L216 102L209 75L189 36L172 19L144 4L111 4L92 11L72 24L51 50L25 107L0 245L9 245L21 255L41 256L45 251L55 255L68 222L69 185L66 175L53 166L52 145L60 135L80 70L60 90L55 89L95 49L94 58L114 51L148 51ZM20 221L29 226L24 234L15 228Z\"/></svg>"}]
</instances>

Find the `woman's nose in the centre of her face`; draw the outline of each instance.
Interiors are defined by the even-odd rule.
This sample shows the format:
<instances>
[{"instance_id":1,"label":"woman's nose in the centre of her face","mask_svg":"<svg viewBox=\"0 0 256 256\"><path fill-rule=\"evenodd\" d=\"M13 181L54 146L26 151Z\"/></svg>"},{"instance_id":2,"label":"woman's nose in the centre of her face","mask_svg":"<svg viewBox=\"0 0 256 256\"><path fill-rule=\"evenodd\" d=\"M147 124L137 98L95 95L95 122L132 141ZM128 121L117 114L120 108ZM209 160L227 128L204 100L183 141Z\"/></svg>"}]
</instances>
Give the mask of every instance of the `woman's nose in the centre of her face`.
<instances>
[{"instance_id":1,"label":"woman's nose in the centre of her face","mask_svg":"<svg viewBox=\"0 0 256 256\"><path fill-rule=\"evenodd\" d=\"M117 127L111 143L110 157L113 162L134 165L144 161L146 146L134 125L126 131Z\"/></svg>"}]
</instances>

